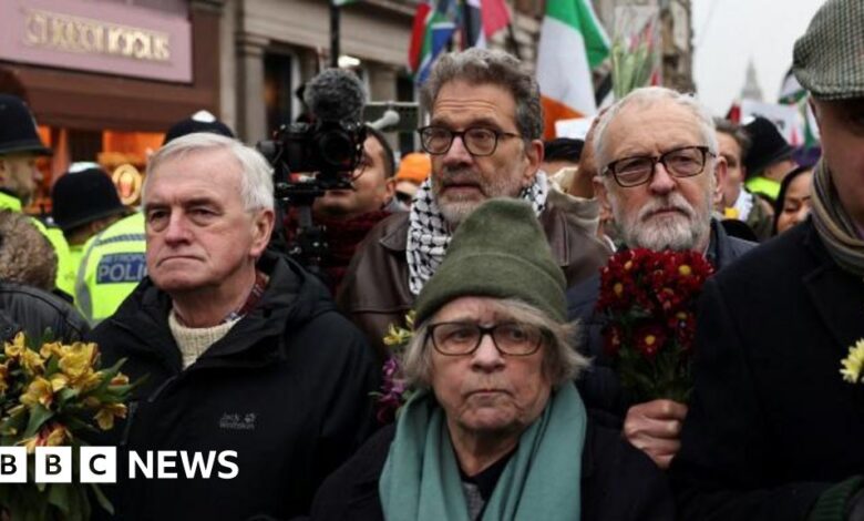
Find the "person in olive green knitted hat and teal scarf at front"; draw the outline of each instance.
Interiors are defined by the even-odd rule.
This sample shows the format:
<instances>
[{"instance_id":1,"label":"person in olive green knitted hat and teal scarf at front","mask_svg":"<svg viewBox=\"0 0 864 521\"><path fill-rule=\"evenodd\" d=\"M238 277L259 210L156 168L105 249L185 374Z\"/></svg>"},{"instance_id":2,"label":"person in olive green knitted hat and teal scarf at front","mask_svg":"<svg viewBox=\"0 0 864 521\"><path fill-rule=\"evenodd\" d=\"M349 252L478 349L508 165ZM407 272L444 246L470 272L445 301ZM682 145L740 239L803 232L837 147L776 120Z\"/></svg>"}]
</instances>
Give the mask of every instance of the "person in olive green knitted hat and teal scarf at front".
<instances>
[{"instance_id":1,"label":"person in olive green knitted hat and teal scarf at front","mask_svg":"<svg viewBox=\"0 0 864 521\"><path fill-rule=\"evenodd\" d=\"M565 279L531 207L492 200L416 299L416 392L319 490L313 520L668 520L664 474L595 425Z\"/></svg>"}]
</instances>

